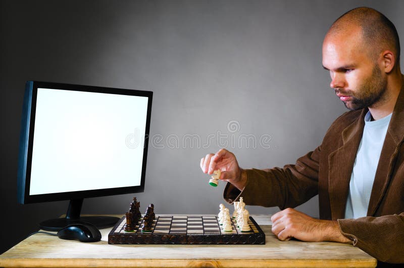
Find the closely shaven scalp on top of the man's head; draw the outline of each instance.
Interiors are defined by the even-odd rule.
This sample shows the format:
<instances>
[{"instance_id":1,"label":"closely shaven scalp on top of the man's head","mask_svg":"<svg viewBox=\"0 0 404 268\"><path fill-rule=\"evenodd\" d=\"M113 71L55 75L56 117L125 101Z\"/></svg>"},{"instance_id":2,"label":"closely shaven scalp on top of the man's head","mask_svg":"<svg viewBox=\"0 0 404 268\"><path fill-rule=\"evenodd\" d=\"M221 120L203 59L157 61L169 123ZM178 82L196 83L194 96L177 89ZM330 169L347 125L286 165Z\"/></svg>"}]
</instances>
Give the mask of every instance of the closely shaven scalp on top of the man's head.
<instances>
[{"instance_id":1,"label":"closely shaven scalp on top of the man's head","mask_svg":"<svg viewBox=\"0 0 404 268\"><path fill-rule=\"evenodd\" d=\"M394 53L395 67L399 68L400 43L394 24L371 8L352 9L339 17L327 32L327 38L361 34L361 47L376 59L381 52Z\"/></svg>"}]
</instances>

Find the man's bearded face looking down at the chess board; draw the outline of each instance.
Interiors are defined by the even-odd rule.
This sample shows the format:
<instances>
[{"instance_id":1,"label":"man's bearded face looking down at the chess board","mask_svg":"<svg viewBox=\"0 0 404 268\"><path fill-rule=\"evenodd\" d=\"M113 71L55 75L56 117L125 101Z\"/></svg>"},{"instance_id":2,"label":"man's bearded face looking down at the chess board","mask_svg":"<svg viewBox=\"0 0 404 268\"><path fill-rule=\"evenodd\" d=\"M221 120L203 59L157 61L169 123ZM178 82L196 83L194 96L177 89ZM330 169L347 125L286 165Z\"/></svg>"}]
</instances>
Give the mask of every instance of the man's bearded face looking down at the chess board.
<instances>
[{"instance_id":1,"label":"man's bearded face looking down at the chess board","mask_svg":"<svg viewBox=\"0 0 404 268\"><path fill-rule=\"evenodd\" d=\"M330 86L346 108L372 107L383 99L386 77L363 45L360 29L326 36L323 66L330 72Z\"/></svg>"}]
</instances>

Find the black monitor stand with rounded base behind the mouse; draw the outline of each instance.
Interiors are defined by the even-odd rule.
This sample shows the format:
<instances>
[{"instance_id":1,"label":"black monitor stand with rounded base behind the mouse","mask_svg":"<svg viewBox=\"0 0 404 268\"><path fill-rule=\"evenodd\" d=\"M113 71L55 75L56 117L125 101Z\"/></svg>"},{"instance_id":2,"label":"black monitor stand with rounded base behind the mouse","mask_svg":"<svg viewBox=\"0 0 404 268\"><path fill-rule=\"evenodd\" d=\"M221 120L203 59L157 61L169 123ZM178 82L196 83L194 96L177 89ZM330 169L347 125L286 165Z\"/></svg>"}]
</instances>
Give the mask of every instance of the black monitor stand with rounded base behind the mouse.
<instances>
[{"instance_id":1,"label":"black monitor stand with rounded base behind the mouse","mask_svg":"<svg viewBox=\"0 0 404 268\"><path fill-rule=\"evenodd\" d=\"M45 231L59 231L69 224L89 222L98 229L113 227L119 220L118 217L111 216L83 216L80 217L83 198L72 199L69 203L65 218L53 218L40 222L39 226Z\"/></svg>"}]
</instances>

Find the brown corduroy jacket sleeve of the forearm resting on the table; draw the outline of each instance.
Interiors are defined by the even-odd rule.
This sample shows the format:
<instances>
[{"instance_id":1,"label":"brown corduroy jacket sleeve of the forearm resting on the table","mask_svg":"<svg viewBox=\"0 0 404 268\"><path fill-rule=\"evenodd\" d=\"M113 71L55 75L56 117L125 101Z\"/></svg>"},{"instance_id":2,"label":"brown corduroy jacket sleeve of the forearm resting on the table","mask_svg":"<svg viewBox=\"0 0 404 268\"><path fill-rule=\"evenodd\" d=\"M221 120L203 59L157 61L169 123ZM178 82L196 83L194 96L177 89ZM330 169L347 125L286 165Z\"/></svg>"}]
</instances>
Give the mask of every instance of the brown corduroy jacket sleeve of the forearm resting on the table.
<instances>
[{"instance_id":1,"label":"brown corduroy jacket sleeve of the forearm resting on the table","mask_svg":"<svg viewBox=\"0 0 404 268\"><path fill-rule=\"evenodd\" d=\"M404 263L404 212L379 217L338 219L344 236L379 261Z\"/></svg>"}]
</instances>

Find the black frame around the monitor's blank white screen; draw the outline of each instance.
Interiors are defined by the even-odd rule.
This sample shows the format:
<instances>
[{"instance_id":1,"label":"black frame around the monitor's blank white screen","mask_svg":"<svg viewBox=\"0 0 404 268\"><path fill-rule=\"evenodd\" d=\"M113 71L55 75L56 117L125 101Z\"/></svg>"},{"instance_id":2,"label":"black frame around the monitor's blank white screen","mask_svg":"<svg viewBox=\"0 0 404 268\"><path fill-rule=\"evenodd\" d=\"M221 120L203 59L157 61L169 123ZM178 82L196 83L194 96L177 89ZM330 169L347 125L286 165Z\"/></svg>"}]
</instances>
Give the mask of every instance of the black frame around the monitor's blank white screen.
<instances>
[{"instance_id":1,"label":"black frame around the monitor's blank white screen","mask_svg":"<svg viewBox=\"0 0 404 268\"><path fill-rule=\"evenodd\" d=\"M32 149L33 149L33 137L35 131L35 112L36 112L36 98L38 88L50 88L53 90L67 90L67 91L146 97L147 112L146 112L146 125L145 125L140 186L30 195L29 190L31 182ZM27 81L24 95L23 114L21 122L21 136L20 136L20 157L19 157L19 170L18 170L19 202L22 204L26 204L26 203L62 201L62 200L143 192L145 183L146 163L147 163L148 136L150 131L152 99L153 99L153 92L151 91L128 90L124 88L115 88L115 87L102 87L91 85L55 83L55 82Z\"/></svg>"}]
</instances>

